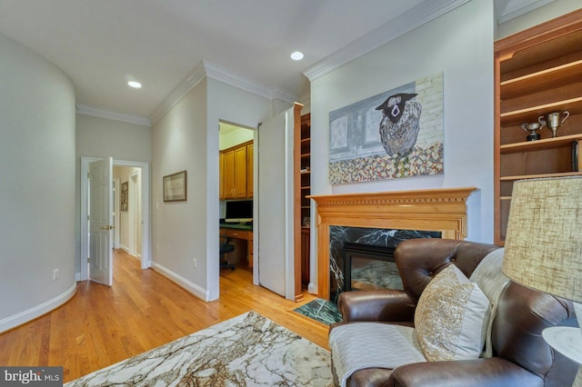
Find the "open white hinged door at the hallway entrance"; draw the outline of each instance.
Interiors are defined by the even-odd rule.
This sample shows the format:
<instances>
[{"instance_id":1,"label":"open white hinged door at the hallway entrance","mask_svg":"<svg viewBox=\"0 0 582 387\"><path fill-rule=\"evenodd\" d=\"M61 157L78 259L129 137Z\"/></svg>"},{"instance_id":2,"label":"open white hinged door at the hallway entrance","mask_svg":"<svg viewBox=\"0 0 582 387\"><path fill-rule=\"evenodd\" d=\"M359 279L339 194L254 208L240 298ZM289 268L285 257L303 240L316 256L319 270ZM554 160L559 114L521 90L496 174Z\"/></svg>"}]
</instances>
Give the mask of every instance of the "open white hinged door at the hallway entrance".
<instances>
[{"instance_id":1,"label":"open white hinged door at the hallway entrance","mask_svg":"<svg viewBox=\"0 0 582 387\"><path fill-rule=\"evenodd\" d=\"M89 164L89 279L113 283L113 159Z\"/></svg>"}]
</instances>

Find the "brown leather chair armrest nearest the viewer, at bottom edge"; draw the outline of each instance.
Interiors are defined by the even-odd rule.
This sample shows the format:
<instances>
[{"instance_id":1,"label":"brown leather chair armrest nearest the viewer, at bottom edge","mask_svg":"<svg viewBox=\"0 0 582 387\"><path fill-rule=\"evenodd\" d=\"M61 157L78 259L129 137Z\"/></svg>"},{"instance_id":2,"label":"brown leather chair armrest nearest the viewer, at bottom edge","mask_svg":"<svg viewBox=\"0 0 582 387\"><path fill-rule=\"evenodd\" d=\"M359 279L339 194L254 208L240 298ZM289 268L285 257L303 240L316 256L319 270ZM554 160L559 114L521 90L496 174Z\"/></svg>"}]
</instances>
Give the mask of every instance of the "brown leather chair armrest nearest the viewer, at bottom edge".
<instances>
[{"instance_id":1,"label":"brown leather chair armrest nearest the viewer, at bottom edge","mask_svg":"<svg viewBox=\"0 0 582 387\"><path fill-rule=\"evenodd\" d=\"M490 359L451 362L416 362L397 367L391 374L390 386L430 387L498 387L543 386L544 381L513 362Z\"/></svg>"}]
</instances>

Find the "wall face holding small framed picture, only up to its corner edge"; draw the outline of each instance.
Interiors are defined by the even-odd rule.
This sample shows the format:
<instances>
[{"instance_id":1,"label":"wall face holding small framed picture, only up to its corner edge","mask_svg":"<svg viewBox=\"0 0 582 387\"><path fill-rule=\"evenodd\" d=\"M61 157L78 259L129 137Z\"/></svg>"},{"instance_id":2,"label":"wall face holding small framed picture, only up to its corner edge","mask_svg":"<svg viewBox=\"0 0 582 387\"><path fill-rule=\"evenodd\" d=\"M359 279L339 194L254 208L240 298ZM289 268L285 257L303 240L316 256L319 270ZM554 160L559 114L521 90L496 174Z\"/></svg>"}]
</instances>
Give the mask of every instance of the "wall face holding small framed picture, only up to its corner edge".
<instances>
[{"instance_id":1,"label":"wall face holding small framed picture, only up to its corner edge","mask_svg":"<svg viewBox=\"0 0 582 387\"><path fill-rule=\"evenodd\" d=\"M206 298L206 81L197 84L152 130L153 266ZM217 123L215 132L218 136ZM184 170L187 201L165 203L163 176ZM198 262L196 270L193 259Z\"/></svg>"}]
</instances>

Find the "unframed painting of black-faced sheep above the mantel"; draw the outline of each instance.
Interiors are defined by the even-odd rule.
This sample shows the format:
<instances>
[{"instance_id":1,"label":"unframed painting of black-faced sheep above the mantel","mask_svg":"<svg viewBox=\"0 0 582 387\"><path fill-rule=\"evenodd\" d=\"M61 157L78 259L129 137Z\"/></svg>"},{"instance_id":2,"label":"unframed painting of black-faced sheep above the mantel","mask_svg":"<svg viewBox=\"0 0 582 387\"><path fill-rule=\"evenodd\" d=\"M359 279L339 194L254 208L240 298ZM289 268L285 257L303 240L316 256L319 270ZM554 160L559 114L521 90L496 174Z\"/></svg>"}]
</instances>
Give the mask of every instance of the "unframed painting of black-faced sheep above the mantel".
<instances>
[{"instance_id":1,"label":"unframed painting of black-faced sheep above the mantel","mask_svg":"<svg viewBox=\"0 0 582 387\"><path fill-rule=\"evenodd\" d=\"M443 105L439 73L330 112L329 182L444 174Z\"/></svg>"}]
</instances>

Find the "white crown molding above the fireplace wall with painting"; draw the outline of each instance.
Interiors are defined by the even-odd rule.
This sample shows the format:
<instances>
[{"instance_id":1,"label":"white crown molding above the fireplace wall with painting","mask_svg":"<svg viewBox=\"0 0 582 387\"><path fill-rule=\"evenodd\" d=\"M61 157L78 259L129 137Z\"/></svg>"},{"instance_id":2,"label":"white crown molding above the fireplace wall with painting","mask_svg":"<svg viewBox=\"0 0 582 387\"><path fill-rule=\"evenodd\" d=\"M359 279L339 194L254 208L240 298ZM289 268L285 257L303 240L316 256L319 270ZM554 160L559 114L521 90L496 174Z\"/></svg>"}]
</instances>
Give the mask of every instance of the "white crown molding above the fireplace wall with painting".
<instances>
[{"instance_id":1,"label":"white crown molding above the fireplace wall with painting","mask_svg":"<svg viewBox=\"0 0 582 387\"><path fill-rule=\"evenodd\" d=\"M362 36L349 45L328 55L315 65L310 66L303 73L313 82L320 76L330 73L336 68L346 65L346 63L369 53L381 45L391 42L398 36L424 25L440 15L445 15L460 5L464 5L470 0L426 0L406 11L403 15L391 20L385 25L381 25L371 33Z\"/></svg>"}]
</instances>

